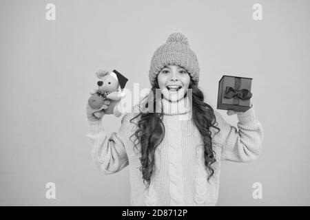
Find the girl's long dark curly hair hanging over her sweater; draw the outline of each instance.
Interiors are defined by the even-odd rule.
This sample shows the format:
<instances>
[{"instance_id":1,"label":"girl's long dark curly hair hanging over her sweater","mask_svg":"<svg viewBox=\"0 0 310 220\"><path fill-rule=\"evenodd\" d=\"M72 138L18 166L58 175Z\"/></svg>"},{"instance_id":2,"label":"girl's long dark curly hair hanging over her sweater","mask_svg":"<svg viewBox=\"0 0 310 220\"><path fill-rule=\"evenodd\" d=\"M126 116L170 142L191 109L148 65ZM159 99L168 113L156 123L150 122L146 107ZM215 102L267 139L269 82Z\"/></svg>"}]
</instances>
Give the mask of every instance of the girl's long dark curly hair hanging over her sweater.
<instances>
[{"instance_id":1,"label":"girl's long dark curly hair hanging over her sweater","mask_svg":"<svg viewBox=\"0 0 310 220\"><path fill-rule=\"evenodd\" d=\"M158 89L159 86L156 77L155 85L151 88L150 92L156 94ZM216 153L212 149L211 131L209 131L209 128L214 127L218 130L218 132L220 129L214 125L216 124L214 110L209 104L204 102L203 92L198 88L198 85L194 83L192 77L189 83L189 89L192 89L191 120L193 120L203 139L205 166L209 170L207 181L209 181L210 177L214 175L214 169L211 167L211 164L216 162ZM163 98L163 94L160 96ZM185 97L186 96L187 94L185 94ZM143 183L145 184L145 181L147 182L147 184L145 184L147 187L149 186L152 174L155 171L156 148L159 144L161 144L163 137L165 136L165 126L162 120L164 115L163 105L161 105L161 109L156 109L158 108L156 97L157 96L152 96L153 100L146 102L144 106L145 109L148 109L148 104L152 103L152 109L154 109L154 111L140 111L138 115L130 120L130 122L133 122L133 120L137 119L136 122L133 122L136 124L137 129L131 137L136 137L136 140L134 140L135 147L138 145L138 143L141 144L141 157L139 158L141 161L141 166L139 170L143 174ZM145 96L145 98L147 98L147 96Z\"/></svg>"}]
</instances>

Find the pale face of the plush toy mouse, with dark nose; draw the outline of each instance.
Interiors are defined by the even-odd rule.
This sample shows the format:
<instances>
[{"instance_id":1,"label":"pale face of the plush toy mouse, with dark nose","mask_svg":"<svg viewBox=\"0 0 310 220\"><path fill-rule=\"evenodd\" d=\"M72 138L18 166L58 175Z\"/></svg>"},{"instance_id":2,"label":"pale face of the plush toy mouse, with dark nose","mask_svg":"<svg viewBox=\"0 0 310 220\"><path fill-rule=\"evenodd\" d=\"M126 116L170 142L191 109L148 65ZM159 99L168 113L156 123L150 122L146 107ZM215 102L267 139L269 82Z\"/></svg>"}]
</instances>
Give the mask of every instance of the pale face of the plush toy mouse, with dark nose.
<instances>
[{"instance_id":1,"label":"pale face of the plush toy mouse, with dark nose","mask_svg":"<svg viewBox=\"0 0 310 220\"><path fill-rule=\"evenodd\" d=\"M118 89L119 83L109 72L101 70L96 72L96 76L101 79L97 82L100 91L114 91Z\"/></svg>"}]
</instances>

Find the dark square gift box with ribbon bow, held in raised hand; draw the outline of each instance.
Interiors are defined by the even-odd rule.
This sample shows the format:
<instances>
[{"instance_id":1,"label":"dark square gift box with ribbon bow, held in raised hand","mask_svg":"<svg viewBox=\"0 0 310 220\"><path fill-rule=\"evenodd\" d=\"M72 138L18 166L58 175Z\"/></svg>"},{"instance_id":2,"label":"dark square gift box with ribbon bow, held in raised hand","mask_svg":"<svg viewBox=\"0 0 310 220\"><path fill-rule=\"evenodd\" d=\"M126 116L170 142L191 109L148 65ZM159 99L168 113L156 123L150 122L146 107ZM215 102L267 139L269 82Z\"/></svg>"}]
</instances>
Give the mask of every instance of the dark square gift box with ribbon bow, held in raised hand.
<instances>
[{"instance_id":1,"label":"dark square gift box with ribbon bow, held in raised hand","mask_svg":"<svg viewBox=\"0 0 310 220\"><path fill-rule=\"evenodd\" d=\"M253 78L224 75L218 82L217 109L245 112L251 108Z\"/></svg>"}]
</instances>

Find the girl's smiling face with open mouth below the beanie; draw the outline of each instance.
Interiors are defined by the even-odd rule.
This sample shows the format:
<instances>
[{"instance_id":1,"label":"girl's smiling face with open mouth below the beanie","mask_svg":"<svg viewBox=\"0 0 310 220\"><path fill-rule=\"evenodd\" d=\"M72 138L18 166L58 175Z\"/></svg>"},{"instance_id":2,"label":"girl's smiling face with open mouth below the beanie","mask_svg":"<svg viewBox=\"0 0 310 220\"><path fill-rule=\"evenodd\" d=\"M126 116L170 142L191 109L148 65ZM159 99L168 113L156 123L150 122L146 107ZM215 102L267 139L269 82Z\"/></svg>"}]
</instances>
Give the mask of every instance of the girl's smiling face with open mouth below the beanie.
<instances>
[{"instance_id":1,"label":"girl's smiling face with open mouth below the beanie","mask_svg":"<svg viewBox=\"0 0 310 220\"><path fill-rule=\"evenodd\" d=\"M158 85L164 98L177 101L185 96L189 87L190 76L178 65L167 65L158 74Z\"/></svg>"}]
</instances>

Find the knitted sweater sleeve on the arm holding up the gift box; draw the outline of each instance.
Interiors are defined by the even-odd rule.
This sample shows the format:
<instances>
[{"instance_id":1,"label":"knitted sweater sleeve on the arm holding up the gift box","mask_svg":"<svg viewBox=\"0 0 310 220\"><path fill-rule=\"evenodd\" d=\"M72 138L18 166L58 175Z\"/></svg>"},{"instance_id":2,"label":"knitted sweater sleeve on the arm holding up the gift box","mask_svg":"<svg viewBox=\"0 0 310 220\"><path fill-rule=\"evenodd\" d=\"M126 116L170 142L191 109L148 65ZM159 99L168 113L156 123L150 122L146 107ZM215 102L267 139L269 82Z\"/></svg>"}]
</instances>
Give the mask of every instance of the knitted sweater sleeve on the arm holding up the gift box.
<instances>
[{"instance_id":1,"label":"knitted sweater sleeve on the arm holding up the gift box","mask_svg":"<svg viewBox=\"0 0 310 220\"><path fill-rule=\"evenodd\" d=\"M221 160L251 162L257 159L262 147L262 124L256 119L254 105L245 112L237 113L238 129L216 113L221 129Z\"/></svg>"}]
</instances>

